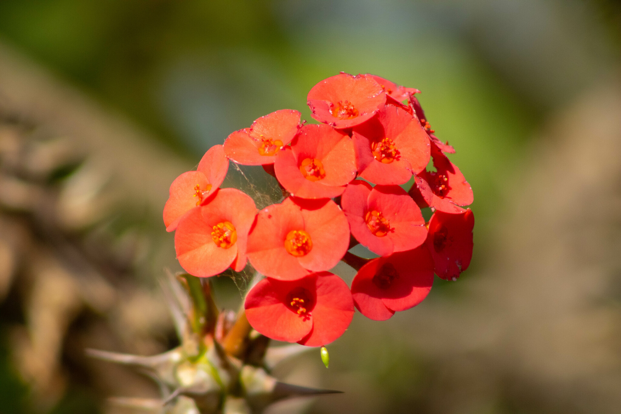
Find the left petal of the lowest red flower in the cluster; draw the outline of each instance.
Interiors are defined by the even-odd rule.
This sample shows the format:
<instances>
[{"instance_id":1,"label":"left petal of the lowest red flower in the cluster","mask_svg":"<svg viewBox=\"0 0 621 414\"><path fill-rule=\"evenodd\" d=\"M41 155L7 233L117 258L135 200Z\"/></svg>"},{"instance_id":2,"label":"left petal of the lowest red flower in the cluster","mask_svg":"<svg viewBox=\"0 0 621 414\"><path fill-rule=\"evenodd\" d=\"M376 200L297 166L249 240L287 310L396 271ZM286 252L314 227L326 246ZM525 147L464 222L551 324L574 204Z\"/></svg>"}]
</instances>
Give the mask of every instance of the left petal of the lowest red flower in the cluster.
<instances>
[{"instance_id":1,"label":"left petal of the lowest red flower in the cluster","mask_svg":"<svg viewBox=\"0 0 621 414\"><path fill-rule=\"evenodd\" d=\"M303 318L285 305L287 295L298 286L315 291L315 277L284 282L269 277L258 282L244 303L246 318L257 331L277 341L297 342L312 329L312 318Z\"/></svg>"}]
</instances>

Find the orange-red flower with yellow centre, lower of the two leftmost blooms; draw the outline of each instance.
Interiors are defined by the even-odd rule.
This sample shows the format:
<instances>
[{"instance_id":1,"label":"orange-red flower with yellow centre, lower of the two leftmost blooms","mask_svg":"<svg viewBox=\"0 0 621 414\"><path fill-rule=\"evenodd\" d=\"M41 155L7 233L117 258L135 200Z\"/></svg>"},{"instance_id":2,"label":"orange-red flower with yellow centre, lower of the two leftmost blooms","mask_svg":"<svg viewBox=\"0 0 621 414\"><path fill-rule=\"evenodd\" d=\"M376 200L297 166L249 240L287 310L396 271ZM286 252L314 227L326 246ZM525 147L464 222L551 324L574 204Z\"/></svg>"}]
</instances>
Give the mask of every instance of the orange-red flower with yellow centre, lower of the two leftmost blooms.
<instances>
[{"instance_id":1,"label":"orange-red flower with yellow centre, lower of the two leftmost blooms","mask_svg":"<svg viewBox=\"0 0 621 414\"><path fill-rule=\"evenodd\" d=\"M181 267L199 277L215 276L229 266L242 271L255 215L255 202L242 191L217 191L209 203L179 221L175 250Z\"/></svg>"}]
</instances>

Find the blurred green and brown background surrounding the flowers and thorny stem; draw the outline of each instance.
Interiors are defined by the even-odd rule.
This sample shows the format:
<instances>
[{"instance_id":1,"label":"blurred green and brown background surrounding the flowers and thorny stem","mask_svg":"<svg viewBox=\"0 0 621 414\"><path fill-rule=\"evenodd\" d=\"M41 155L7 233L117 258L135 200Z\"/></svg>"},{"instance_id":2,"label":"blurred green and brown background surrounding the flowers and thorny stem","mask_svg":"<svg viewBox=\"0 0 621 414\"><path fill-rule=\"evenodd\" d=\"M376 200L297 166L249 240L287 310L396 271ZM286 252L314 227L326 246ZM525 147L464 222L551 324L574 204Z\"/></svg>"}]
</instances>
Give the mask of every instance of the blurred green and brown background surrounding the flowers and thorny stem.
<instances>
[{"instance_id":1,"label":"blurred green and brown background surrounding the flowers and thorny stem","mask_svg":"<svg viewBox=\"0 0 621 414\"><path fill-rule=\"evenodd\" d=\"M2 0L0 413L156 392L83 349L175 346L170 182L261 115L310 119L341 70L422 91L474 189L474 257L419 307L356 315L330 369L299 359L290 381L345 394L280 412L621 412L620 43L613 0Z\"/></svg>"}]
</instances>

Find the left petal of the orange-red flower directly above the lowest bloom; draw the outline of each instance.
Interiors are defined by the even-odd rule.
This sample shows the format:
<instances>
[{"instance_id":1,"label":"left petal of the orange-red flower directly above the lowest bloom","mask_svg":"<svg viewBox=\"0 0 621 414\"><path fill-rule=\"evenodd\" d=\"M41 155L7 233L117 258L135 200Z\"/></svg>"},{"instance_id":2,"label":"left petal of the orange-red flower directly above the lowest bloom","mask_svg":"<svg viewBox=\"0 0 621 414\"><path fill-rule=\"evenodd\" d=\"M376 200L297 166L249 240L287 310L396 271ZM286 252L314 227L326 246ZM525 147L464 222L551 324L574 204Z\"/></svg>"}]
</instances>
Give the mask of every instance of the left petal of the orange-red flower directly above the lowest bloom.
<instances>
[{"instance_id":1,"label":"left petal of the orange-red flower directly above the lowest bloom","mask_svg":"<svg viewBox=\"0 0 621 414\"><path fill-rule=\"evenodd\" d=\"M291 199L259 212L247 248L248 259L256 271L281 280L300 279L310 273L284 248L291 230L304 230L300 208Z\"/></svg>"}]
</instances>

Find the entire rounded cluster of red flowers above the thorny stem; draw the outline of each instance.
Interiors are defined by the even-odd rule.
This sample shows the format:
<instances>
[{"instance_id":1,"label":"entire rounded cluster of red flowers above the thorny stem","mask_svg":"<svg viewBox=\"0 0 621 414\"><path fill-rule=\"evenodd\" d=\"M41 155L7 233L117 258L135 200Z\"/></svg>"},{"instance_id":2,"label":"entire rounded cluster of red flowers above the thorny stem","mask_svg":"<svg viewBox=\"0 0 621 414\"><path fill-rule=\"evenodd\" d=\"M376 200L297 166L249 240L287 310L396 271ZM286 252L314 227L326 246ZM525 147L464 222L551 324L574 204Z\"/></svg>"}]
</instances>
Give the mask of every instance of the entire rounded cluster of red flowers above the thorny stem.
<instances>
[{"instance_id":1,"label":"entire rounded cluster of red flowers above the thorny stem","mask_svg":"<svg viewBox=\"0 0 621 414\"><path fill-rule=\"evenodd\" d=\"M456 280L472 256L474 216L463 206L473 192L446 156L453 147L435 137L418 92L340 73L309 92L322 124L277 110L212 147L196 171L173 181L164 208L181 266L209 277L250 261L266 278L248 292L248 322L307 346L337 339L355 308L386 320L414 307L434 272ZM263 165L288 196L257 211L243 192L219 189L229 160ZM424 207L433 212L428 223ZM347 251L358 243L380 257ZM358 269L351 289L329 272L340 260Z\"/></svg>"}]
</instances>

